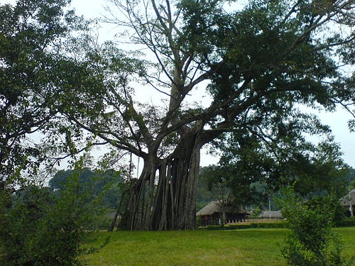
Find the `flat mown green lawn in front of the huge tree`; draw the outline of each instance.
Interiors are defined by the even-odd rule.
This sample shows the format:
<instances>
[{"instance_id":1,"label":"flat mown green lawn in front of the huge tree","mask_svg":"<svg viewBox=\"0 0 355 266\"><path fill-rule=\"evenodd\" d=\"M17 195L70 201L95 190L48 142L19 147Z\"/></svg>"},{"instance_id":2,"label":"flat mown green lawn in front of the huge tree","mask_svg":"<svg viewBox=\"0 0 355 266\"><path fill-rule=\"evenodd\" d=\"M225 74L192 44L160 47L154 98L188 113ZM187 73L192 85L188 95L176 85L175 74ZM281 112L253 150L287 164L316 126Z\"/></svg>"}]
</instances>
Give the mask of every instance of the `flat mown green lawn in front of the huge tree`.
<instances>
[{"instance_id":1,"label":"flat mown green lawn in front of the huge tree","mask_svg":"<svg viewBox=\"0 0 355 266\"><path fill-rule=\"evenodd\" d=\"M355 256L355 228L337 228L344 253ZM94 233L89 244L111 240L84 259L92 266L116 265L285 265L280 255L286 229L236 231L117 231Z\"/></svg>"}]
</instances>

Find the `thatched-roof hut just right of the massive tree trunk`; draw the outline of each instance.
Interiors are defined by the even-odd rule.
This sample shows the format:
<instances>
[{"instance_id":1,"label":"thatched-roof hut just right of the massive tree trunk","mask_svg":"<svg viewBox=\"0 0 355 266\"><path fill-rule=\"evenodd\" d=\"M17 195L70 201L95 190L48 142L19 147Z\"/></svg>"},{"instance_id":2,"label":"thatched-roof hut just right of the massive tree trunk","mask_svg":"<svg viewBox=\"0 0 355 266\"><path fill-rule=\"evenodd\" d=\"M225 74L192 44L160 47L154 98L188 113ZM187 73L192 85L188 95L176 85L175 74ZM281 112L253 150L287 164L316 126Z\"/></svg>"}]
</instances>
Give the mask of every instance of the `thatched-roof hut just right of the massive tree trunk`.
<instances>
[{"instance_id":1,"label":"thatched-roof hut just right of the massive tree trunk","mask_svg":"<svg viewBox=\"0 0 355 266\"><path fill-rule=\"evenodd\" d=\"M234 207L231 201L212 201L197 211L200 226L222 226L226 223L246 221L248 214Z\"/></svg>"}]
</instances>

